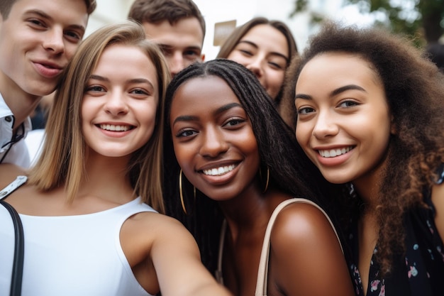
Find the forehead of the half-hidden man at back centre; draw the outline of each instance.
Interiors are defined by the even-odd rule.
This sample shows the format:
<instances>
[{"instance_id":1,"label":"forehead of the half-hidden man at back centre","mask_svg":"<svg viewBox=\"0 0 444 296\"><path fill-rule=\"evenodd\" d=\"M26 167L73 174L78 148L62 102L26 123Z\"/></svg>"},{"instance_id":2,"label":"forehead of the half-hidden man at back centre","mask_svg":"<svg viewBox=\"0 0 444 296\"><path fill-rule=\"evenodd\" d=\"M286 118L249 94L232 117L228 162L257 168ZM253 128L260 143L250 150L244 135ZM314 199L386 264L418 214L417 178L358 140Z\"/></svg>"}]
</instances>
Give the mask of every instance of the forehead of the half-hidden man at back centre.
<instances>
[{"instance_id":1,"label":"forehead of the half-hidden man at back centre","mask_svg":"<svg viewBox=\"0 0 444 296\"><path fill-rule=\"evenodd\" d=\"M143 22L148 39L157 44L174 47L199 46L204 43L204 32L197 18L182 18L171 24L165 20L160 23Z\"/></svg>"}]
</instances>

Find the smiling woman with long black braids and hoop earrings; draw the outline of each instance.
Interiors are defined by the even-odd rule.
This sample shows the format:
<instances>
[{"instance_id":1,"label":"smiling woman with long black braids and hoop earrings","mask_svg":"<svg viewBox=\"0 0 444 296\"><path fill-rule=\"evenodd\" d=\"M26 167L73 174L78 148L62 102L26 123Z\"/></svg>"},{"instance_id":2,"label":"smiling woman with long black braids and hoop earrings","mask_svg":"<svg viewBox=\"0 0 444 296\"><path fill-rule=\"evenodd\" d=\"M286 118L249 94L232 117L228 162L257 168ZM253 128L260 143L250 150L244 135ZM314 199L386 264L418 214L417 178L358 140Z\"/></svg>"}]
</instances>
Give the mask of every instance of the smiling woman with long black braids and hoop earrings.
<instances>
[{"instance_id":1,"label":"smiling woman with long black braids and hoop earrings","mask_svg":"<svg viewBox=\"0 0 444 296\"><path fill-rule=\"evenodd\" d=\"M353 295L314 171L252 72L191 65L170 83L165 112L167 214L221 283L234 295Z\"/></svg>"}]
</instances>

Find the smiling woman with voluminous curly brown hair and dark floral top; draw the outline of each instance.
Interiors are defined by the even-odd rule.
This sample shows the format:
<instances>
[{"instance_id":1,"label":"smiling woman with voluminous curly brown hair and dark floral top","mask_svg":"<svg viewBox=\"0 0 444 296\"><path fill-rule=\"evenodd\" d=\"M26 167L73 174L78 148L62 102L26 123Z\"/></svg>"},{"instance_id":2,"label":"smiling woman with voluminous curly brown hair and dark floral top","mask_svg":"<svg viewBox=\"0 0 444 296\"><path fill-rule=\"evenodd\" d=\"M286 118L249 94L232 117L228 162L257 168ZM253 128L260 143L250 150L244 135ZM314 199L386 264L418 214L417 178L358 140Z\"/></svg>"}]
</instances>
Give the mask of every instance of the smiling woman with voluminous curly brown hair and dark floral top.
<instances>
[{"instance_id":1,"label":"smiling woman with voluminous curly brown hair and dark floral top","mask_svg":"<svg viewBox=\"0 0 444 296\"><path fill-rule=\"evenodd\" d=\"M399 36L328 23L289 73L296 138L344 185L357 295L444 295L444 80L425 57Z\"/></svg>"}]
</instances>

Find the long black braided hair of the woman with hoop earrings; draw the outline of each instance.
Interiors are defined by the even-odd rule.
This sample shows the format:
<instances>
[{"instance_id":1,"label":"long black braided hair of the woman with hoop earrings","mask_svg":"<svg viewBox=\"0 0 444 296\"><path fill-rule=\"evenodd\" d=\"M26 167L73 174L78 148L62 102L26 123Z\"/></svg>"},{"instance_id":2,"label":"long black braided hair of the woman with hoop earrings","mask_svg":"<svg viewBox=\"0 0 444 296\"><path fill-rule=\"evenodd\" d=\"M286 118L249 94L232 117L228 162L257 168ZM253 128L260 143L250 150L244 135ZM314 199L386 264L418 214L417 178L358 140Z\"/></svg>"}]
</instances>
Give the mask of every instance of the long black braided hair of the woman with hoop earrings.
<instances>
[{"instance_id":1,"label":"long black braided hair of the woman with hoop earrings","mask_svg":"<svg viewBox=\"0 0 444 296\"><path fill-rule=\"evenodd\" d=\"M174 93L189 80L208 76L224 80L245 109L257 141L261 167L270 168L270 187L309 199L316 199L315 197L320 197L321 194L313 189L316 185L310 177L311 174L316 174L316 168L313 169L313 165L299 147L294 131L279 116L272 99L252 72L243 65L226 59L196 63L179 72L167 89L165 101L165 203L167 214L182 221L194 234L201 249L202 260L212 272L216 269L223 216L216 202L201 192L198 192L194 202L192 185L185 181L182 186L189 215L182 212L177 186L179 165L172 148L170 127L170 110Z\"/></svg>"}]
</instances>

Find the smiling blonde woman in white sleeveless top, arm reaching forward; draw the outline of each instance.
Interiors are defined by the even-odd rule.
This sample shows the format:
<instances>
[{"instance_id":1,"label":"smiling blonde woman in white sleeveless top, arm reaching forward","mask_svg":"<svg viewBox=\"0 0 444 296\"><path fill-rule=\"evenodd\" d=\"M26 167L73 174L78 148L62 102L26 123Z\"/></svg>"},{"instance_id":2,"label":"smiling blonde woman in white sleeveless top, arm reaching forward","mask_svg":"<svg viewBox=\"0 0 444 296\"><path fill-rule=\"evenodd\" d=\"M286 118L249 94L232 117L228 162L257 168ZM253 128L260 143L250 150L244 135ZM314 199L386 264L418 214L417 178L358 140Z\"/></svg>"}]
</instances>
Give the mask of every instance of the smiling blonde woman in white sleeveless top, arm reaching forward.
<instances>
[{"instance_id":1,"label":"smiling blonde woman in white sleeveless top, arm reaching forward","mask_svg":"<svg viewBox=\"0 0 444 296\"><path fill-rule=\"evenodd\" d=\"M57 89L41 157L6 197L23 223L21 295L228 295L186 229L157 213L169 80L135 23L82 43ZM1 187L11 179L2 165ZM0 294L8 295L14 235L3 207L0 223Z\"/></svg>"}]
</instances>

